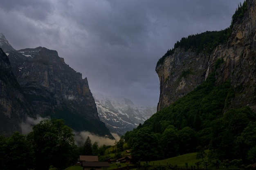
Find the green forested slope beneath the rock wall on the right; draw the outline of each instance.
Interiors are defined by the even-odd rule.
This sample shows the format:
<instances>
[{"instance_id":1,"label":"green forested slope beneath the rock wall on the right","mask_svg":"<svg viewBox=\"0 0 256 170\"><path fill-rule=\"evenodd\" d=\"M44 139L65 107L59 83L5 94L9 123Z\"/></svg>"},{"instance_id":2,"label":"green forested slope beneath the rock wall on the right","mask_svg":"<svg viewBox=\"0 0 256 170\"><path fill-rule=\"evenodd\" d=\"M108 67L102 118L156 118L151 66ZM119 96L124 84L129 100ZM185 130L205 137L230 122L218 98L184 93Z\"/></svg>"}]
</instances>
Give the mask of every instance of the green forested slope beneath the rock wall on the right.
<instances>
[{"instance_id":1,"label":"green forested slope beneath the rock wall on the right","mask_svg":"<svg viewBox=\"0 0 256 170\"><path fill-rule=\"evenodd\" d=\"M215 71L223 63L218 59ZM209 149L211 163L256 162L256 113L249 107L227 109L234 91L230 81L215 85L215 72L193 91L126 132L132 157L166 159Z\"/></svg>"}]
</instances>

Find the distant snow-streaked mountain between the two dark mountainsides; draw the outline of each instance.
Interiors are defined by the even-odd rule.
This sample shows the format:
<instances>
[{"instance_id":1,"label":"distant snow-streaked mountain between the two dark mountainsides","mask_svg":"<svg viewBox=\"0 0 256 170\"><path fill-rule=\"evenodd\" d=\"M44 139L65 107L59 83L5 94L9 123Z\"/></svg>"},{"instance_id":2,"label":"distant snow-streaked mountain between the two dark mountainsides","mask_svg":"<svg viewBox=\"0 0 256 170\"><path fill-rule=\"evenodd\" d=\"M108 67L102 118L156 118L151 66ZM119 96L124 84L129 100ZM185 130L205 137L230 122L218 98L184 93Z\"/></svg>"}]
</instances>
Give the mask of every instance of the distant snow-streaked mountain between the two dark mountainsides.
<instances>
[{"instance_id":1,"label":"distant snow-streaked mountain between the two dark mountainsides","mask_svg":"<svg viewBox=\"0 0 256 170\"><path fill-rule=\"evenodd\" d=\"M124 135L156 113L157 106L139 107L125 97L93 94L99 118L110 132Z\"/></svg>"}]
</instances>

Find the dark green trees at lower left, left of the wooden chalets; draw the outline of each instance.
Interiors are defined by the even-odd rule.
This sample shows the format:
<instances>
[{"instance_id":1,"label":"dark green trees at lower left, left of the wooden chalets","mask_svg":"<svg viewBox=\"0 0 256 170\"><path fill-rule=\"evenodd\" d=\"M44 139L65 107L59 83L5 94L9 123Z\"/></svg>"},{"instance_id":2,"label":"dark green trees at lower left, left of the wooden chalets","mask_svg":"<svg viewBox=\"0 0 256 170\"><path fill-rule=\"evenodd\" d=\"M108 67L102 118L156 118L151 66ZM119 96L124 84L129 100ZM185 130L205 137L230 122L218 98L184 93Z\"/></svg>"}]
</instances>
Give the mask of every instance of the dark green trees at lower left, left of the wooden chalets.
<instances>
[{"instance_id":1,"label":"dark green trees at lower left, left of the wooden chalets","mask_svg":"<svg viewBox=\"0 0 256 170\"><path fill-rule=\"evenodd\" d=\"M78 147L63 119L43 120L28 135L0 135L0 170L61 170L74 165L79 155L104 155L109 147L92 144L90 137Z\"/></svg>"}]
</instances>

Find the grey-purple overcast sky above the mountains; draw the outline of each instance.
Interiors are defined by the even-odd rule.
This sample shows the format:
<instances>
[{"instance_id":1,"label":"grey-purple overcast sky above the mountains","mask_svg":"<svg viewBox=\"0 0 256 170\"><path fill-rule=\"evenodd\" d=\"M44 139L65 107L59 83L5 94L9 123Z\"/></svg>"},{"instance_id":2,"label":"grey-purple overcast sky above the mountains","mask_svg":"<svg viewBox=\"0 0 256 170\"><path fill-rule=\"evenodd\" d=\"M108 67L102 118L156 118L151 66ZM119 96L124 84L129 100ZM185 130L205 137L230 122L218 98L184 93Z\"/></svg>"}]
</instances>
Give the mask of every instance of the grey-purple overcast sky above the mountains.
<instances>
[{"instance_id":1,"label":"grey-purple overcast sky above the mountains","mask_svg":"<svg viewBox=\"0 0 256 170\"><path fill-rule=\"evenodd\" d=\"M227 28L240 0L3 0L0 33L14 49L46 47L92 93L157 105L160 57L182 37Z\"/></svg>"}]
</instances>

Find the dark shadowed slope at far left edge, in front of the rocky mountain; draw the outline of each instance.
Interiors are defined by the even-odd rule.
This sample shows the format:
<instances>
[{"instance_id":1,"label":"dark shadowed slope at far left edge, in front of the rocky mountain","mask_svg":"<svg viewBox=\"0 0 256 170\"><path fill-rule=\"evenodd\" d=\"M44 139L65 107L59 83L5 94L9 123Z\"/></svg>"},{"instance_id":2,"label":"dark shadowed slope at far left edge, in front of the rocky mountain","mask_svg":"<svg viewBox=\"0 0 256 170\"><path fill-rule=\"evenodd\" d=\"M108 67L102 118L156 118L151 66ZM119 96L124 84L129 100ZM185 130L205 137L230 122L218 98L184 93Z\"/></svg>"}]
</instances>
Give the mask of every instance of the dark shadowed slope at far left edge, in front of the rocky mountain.
<instances>
[{"instance_id":1,"label":"dark shadowed slope at far left edge, in front of the rocky mountain","mask_svg":"<svg viewBox=\"0 0 256 170\"><path fill-rule=\"evenodd\" d=\"M11 71L7 55L0 49L0 133L10 136L13 131L21 132L20 124L27 116L36 117Z\"/></svg>"}]
</instances>

